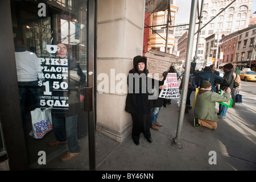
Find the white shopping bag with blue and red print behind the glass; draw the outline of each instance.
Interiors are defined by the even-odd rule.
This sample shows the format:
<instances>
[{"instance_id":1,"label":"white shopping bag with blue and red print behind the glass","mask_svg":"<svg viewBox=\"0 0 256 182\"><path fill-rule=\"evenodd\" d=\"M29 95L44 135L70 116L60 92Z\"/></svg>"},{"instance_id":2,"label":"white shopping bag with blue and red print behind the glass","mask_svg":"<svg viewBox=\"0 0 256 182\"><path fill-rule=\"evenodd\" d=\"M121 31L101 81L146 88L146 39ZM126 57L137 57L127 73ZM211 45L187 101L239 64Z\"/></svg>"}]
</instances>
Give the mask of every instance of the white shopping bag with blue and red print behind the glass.
<instances>
[{"instance_id":1,"label":"white shopping bag with blue and red print behind the glass","mask_svg":"<svg viewBox=\"0 0 256 182\"><path fill-rule=\"evenodd\" d=\"M51 107L43 110L41 108L36 108L30 111L30 113L32 121L31 137L36 139L43 138L52 130Z\"/></svg>"}]
</instances>

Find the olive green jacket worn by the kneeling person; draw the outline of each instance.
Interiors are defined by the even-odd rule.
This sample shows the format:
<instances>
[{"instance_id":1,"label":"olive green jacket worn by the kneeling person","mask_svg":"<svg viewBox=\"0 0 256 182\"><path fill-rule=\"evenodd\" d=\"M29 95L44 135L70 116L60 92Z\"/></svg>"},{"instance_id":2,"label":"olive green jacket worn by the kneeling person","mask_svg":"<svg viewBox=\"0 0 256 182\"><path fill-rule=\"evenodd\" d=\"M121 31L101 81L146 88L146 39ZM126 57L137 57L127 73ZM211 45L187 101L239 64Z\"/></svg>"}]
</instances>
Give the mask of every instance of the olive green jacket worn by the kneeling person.
<instances>
[{"instance_id":1,"label":"olive green jacket worn by the kneeling person","mask_svg":"<svg viewBox=\"0 0 256 182\"><path fill-rule=\"evenodd\" d=\"M203 90L200 90L203 91ZM216 92L206 91L197 94L196 105L194 109L194 116L198 119L207 119L209 121L218 121L217 112L215 109L215 102L227 102L230 100L230 93L224 93L223 95Z\"/></svg>"}]
</instances>

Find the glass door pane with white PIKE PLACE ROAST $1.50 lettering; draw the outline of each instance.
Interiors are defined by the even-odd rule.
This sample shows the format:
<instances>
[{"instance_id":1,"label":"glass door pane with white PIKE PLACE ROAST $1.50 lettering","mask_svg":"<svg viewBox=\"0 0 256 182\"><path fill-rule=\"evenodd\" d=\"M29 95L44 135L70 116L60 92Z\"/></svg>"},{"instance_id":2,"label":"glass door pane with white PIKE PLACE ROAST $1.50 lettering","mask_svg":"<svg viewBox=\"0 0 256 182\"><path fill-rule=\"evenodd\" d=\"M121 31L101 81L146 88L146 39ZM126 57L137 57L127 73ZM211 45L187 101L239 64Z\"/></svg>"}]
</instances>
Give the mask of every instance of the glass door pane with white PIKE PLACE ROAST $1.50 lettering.
<instances>
[{"instance_id":1,"label":"glass door pane with white PIKE PLACE ROAST $1.50 lettering","mask_svg":"<svg viewBox=\"0 0 256 182\"><path fill-rule=\"evenodd\" d=\"M88 170L88 2L10 2L28 165Z\"/></svg>"}]
</instances>

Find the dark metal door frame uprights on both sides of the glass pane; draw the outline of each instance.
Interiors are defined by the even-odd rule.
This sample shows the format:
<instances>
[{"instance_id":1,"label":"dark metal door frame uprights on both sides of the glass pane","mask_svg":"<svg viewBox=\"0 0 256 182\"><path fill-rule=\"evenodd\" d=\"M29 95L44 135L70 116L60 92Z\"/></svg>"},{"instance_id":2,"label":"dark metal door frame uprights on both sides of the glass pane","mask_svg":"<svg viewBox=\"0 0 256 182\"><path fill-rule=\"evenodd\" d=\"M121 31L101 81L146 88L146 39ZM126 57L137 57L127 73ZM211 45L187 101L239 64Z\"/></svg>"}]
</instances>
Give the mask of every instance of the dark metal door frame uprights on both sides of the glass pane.
<instances>
[{"instance_id":1,"label":"dark metal door frame uprights on both sides of the glass pane","mask_svg":"<svg viewBox=\"0 0 256 182\"><path fill-rule=\"evenodd\" d=\"M88 0L87 24L87 59L88 72L94 73L94 57L96 55L96 0ZM0 122L3 140L10 170L28 170L26 143L24 140L22 115L19 102L18 79L16 75L15 51L13 42L13 26L11 20L10 1L0 1L0 20L2 27L0 38ZM92 111L88 113L89 135L89 167L95 170L95 122L94 122L94 74L87 75L88 86L92 87ZM3 97L4 96L4 97Z\"/></svg>"}]
</instances>

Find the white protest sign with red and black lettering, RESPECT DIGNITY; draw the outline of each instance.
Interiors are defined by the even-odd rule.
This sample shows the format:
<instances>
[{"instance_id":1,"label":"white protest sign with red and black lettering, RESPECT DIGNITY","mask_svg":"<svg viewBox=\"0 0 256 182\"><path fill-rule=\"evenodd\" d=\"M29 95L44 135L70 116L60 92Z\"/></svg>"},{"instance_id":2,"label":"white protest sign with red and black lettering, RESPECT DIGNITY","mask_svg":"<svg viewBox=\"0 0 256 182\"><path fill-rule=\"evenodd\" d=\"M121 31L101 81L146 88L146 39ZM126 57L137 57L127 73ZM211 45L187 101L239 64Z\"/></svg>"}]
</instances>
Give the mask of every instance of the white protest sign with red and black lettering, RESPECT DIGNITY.
<instances>
[{"instance_id":1,"label":"white protest sign with red and black lettering, RESPECT DIGNITY","mask_svg":"<svg viewBox=\"0 0 256 182\"><path fill-rule=\"evenodd\" d=\"M161 90L160 98L179 98L179 84L177 82L177 73L168 73L166 80L164 80L164 85L167 86L166 89Z\"/></svg>"}]
</instances>

